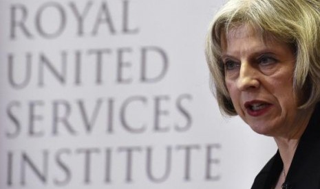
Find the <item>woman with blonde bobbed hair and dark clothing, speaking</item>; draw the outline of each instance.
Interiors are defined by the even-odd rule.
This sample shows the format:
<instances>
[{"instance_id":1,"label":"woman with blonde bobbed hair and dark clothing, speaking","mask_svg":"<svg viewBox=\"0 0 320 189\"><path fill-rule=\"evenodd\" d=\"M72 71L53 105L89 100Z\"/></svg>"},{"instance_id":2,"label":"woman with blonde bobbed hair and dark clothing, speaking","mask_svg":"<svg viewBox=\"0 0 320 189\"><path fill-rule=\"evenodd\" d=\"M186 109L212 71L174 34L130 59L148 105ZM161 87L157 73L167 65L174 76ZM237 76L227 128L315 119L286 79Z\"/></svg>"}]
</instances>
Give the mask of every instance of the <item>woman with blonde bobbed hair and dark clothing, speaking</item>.
<instances>
[{"instance_id":1,"label":"woman with blonde bobbed hair and dark clothing, speaking","mask_svg":"<svg viewBox=\"0 0 320 189\"><path fill-rule=\"evenodd\" d=\"M320 188L320 1L231 0L206 59L222 113L273 136L252 188Z\"/></svg>"}]
</instances>

